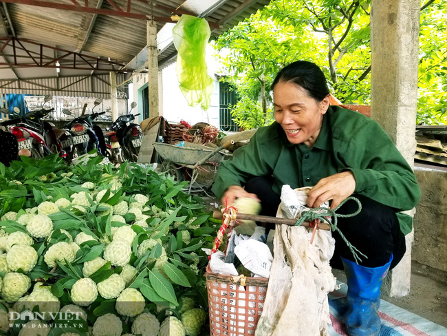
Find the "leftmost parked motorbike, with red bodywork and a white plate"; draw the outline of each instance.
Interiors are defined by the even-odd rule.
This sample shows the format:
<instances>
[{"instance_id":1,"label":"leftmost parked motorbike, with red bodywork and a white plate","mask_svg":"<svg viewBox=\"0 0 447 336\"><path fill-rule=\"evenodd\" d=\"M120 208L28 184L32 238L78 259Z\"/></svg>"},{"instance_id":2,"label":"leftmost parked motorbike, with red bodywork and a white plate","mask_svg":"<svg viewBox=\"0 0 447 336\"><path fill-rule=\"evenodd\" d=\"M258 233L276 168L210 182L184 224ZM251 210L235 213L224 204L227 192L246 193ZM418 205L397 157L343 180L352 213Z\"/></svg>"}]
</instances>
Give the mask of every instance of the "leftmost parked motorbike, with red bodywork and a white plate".
<instances>
[{"instance_id":1,"label":"leftmost parked motorbike, with red bodywork and a white plate","mask_svg":"<svg viewBox=\"0 0 447 336\"><path fill-rule=\"evenodd\" d=\"M43 156L47 156L52 152L60 153L61 156L64 155L64 152L57 145L55 132L57 130L59 137L65 132L54 128L53 125L42 120L43 117L54 111L54 109L45 109L43 107L51 99L52 96L45 96L41 109L28 112L24 116L19 115L20 110L17 107L13 109L14 114L11 114L8 109L1 109L1 112L4 114L9 114L10 119L0 124L16 136L19 141L19 150L30 150L32 158L43 158Z\"/></svg>"}]
</instances>

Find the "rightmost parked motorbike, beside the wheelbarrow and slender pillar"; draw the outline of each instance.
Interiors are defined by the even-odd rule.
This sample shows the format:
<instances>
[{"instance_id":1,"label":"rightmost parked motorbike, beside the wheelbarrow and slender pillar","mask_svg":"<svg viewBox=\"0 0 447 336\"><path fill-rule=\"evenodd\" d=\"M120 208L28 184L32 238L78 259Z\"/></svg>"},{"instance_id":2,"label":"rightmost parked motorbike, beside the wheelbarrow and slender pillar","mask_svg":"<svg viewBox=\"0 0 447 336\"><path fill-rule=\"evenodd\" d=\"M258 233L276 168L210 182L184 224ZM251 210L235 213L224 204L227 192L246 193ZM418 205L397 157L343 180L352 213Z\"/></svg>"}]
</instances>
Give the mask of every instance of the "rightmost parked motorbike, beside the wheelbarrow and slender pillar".
<instances>
[{"instance_id":1,"label":"rightmost parked motorbike, beside the wheelbarrow and slender pillar","mask_svg":"<svg viewBox=\"0 0 447 336\"><path fill-rule=\"evenodd\" d=\"M137 103L131 103L129 114L119 116L112 124L113 132L107 134L111 144L112 158L119 163L123 160L136 162L140 153L143 134L140 125L133 123L135 116L140 115L131 114L135 106Z\"/></svg>"}]
</instances>

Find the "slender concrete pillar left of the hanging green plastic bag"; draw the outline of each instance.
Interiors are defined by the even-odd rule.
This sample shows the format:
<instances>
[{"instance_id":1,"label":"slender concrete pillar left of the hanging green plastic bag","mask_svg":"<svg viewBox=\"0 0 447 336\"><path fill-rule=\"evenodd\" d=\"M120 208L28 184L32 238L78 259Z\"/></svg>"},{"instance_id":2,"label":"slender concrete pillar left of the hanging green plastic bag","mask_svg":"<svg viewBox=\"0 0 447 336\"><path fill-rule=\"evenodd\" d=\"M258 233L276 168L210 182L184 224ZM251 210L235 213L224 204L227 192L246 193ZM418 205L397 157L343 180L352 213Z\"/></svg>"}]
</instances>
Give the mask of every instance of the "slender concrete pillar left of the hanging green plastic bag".
<instances>
[{"instance_id":1,"label":"slender concrete pillar left of the hanging green plastic bag","mask_svg":"<svg viewBox=\"0 0 447 336\"><path fill-rule=\"evenodd\" d=\"M148 61L148 87L149 87L149 118L159 116L158 101L158 50L157 25L155 21L148 20L147 29L147 61Z\"/></svg>"}]
</instances>

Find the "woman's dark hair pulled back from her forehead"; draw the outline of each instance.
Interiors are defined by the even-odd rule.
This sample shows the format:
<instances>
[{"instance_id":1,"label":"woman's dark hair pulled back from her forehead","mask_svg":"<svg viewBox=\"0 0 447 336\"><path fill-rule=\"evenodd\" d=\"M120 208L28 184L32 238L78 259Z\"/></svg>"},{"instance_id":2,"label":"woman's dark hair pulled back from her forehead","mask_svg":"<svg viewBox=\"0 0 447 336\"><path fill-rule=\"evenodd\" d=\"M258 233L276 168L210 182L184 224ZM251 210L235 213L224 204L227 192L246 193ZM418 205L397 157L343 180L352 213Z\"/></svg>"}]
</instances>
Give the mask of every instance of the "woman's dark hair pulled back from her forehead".
<instances>
[{"instance_id":1,"label":"woman's dark hair pulled back from her forehead","mask_svg":"<svg viewBox=\"0 0 447 336\"><path fill-rule=\"evenodd\" d=\"M292 82L302 87L316 101L323 101L329 94L325 74L312 62L296 61L283 67L274 78L271 89L279 82Z\"/></svg>"}]
</instances>

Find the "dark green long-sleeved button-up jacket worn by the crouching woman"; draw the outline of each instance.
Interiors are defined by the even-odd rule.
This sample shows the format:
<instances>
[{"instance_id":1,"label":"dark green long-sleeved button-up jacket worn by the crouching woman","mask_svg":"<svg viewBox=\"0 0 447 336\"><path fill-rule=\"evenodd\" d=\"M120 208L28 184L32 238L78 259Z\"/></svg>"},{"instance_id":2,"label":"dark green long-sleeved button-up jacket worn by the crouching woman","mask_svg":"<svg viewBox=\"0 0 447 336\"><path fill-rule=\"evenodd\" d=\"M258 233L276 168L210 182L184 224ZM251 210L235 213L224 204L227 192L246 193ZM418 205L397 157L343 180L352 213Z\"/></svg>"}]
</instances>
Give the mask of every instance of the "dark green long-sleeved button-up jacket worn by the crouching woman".
<instances>
[{"instance_id":1,"label":"dark green long-sleeved button-up jacket worn by the crouching woman","mask_svg":"<svg viewBox=\"0 0 447 336\"><path fill-rule=\"evenodd\" d=\"M400 211L415 207L420 190L415 174L393 141L371 118L338 106L329 107L314 147L293 145L278 123L261 127L250 143L221 163L212 191L218 198L230 185L252 176L273 176L273 189L314 186L321 179L350 170L360 193L395 209L404 234L412 218Z\"/></svg>"}]
</instances>

